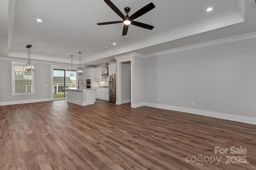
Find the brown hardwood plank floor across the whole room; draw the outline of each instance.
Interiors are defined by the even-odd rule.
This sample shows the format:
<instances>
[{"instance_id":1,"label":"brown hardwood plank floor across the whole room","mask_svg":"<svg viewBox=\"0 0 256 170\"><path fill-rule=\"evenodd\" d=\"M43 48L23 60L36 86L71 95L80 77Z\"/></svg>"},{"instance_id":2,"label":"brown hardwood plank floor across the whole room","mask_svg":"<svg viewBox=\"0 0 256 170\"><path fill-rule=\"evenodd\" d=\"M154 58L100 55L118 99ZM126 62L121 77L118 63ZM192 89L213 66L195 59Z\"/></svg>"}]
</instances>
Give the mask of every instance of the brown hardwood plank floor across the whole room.
<instances>
[{"instance_id":1,"label":"brown hardwood plank floor across the whole room","mask_svg":"<svg viewBox=\"0 0 256 170\"><path fill-rule=\"evenodd\" d=\"M256 125L103 100L8 105L0 155L1 170L252 170Z\"/></svg>"}]
</instances>

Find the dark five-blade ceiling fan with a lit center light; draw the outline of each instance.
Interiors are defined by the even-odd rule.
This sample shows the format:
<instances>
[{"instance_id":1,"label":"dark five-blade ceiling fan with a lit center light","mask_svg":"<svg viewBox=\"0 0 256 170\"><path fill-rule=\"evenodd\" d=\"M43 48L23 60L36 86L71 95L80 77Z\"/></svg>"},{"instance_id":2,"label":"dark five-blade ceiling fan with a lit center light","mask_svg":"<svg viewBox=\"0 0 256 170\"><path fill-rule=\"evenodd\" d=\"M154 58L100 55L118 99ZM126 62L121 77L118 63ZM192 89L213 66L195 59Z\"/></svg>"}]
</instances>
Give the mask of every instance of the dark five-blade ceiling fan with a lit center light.
<instances>
[{"instance_id":1,"label":"dark five-blade ceiling fan with a lit center light","mask_svg":"<svg viewBox=\"0 0 256 170\"><path fill-rule=\"evenodd\" d=\"M143 8L141 8L140 10L138 10L137 12L135 12L134 14L132 14L129 17L128 16L128 13L130 12L130 8L129 7L124 8L124 10L126 12L126 16L124 16L124 14L110 0L104 0L104 1L123 20L122 21L111 21L111 22L97 23L98 25L107 25L107 24L113 24L113 23L124 23L124 28L123 28L122 35L126 35L127 34L128 27L129 27L130 24L136 25L138 27L150 29L150 30L154 28L154 26L152 26L152 25L148 25L146 23L141 23L141 22L138 22L138 21L133 21L136 18L146 14L147 12L149 12L150 10L155 8L155 6L154 6L154 4L152 2L149 3L148 5L144 6Z\"/></svg>"}]
</instances>

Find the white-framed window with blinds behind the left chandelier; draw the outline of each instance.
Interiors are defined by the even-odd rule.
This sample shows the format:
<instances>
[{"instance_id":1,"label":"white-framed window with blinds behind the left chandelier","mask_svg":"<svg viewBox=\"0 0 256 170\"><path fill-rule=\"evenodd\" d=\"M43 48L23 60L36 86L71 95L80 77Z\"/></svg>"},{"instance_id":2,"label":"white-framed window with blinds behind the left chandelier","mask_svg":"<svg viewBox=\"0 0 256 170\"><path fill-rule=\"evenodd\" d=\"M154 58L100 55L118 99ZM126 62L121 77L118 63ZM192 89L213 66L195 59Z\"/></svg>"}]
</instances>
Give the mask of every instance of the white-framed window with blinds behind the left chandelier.
<instances>
[{"instance_id":1,"label":"white-framed window with blinds behind the left chandelier","mask_svg":"<svg viewBox=\"0 0 256 170\"><path fill-rule=\"evenodd\" d=\"M12 62L12 95L34 94L34 73L23 72L23 65Z\"/></svg>"}]
</instances>

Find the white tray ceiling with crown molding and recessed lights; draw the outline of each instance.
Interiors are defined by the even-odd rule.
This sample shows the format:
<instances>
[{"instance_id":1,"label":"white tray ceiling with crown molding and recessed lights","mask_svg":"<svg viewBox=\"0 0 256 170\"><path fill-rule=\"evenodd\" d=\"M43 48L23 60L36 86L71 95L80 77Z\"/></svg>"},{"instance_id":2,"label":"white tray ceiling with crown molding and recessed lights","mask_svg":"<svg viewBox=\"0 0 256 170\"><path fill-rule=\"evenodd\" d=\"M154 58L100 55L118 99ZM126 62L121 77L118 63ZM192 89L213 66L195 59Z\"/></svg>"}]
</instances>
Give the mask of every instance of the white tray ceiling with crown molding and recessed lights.
<instances>
[{"instance_id":1,"label":"white tray ceiling with crown molding and recessed lights","mask_svg":"<svg viewBox=\"0 0 256 170\"><path fill-rule=\"evenodd\" d=\"M0 56L26 59L29 44L32 60L71 63L73 55L78 64L82 52L82 64L96 65L125 53L156 53L256 31L253 0L111 1L124 15L130 7L129 16L153 2L156 8L135 21L154 29L130 25L132 39L113 45L110 38L122 34L123 23L96 24L122 20L103 0L1 0ZM206 12L208 7L213 10Z\"/></svg>"}]
</instances>

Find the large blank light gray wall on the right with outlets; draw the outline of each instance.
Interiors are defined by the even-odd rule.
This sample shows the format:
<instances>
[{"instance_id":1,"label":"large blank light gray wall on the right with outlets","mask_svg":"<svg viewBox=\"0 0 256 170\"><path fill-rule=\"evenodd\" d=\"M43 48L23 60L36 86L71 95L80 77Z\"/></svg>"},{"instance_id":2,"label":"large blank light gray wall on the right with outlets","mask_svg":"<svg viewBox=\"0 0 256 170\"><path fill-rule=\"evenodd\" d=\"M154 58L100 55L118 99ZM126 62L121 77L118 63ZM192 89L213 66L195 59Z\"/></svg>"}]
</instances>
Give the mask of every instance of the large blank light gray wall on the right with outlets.
<instances>
[{"instance_id":1,"label":"large blank light gray wall on the right with outlets","mask_svg":"<svg viewBox=\"0 0 256 170\"><path fill-rule=\"evenodd\" d=\"M255 43L246 39L145 58L145 101L256 117Z\"/></svg>"}]
</instances>

